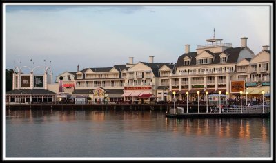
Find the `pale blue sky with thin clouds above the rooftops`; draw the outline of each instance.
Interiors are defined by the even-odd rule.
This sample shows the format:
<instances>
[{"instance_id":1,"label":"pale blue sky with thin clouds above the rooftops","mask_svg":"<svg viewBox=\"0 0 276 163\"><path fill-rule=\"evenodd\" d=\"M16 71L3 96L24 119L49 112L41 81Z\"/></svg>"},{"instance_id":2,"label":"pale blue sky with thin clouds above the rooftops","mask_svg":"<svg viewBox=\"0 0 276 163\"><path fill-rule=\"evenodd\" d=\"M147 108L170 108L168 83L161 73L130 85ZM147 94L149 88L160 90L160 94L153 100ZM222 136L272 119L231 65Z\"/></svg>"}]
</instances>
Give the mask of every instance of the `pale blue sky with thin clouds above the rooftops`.
<instances>
[{"instance_id":1,"label":"pale blue sky with thin clouds above the rooftops","mask_svg":"<svg viewBox=\"0 0 276 163\"><path fill-rule=\"evenodd\" d=\"M213 37L257 54L269 45L268 6L9 6L6 8L6 68L52 61L54 76L77 65L112 67L148 61L176 62L184 45ZM49 62L48 62L49 63Z\"/></svg>"}]
</instances>

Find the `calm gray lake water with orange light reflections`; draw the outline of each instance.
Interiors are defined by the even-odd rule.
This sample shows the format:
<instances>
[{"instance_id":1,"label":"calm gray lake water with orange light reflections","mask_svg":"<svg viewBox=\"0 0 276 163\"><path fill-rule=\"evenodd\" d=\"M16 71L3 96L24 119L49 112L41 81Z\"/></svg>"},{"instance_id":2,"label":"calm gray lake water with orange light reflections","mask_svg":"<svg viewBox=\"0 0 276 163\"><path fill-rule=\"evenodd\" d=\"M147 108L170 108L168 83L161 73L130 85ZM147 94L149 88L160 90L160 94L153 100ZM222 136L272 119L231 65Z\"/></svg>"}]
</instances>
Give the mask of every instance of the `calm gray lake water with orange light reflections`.
<instances>
[{"instance_id":1,"label":"calm gray lake water with orange light reflections","mask_svg":"<svg viewBox=\"0 0 276 163\"><path fill-rule=\"evenodd\" d=\"M6 110L6 158L270 157L270 118L173 119L164 111Z\"/></svg>"}]
</instances>

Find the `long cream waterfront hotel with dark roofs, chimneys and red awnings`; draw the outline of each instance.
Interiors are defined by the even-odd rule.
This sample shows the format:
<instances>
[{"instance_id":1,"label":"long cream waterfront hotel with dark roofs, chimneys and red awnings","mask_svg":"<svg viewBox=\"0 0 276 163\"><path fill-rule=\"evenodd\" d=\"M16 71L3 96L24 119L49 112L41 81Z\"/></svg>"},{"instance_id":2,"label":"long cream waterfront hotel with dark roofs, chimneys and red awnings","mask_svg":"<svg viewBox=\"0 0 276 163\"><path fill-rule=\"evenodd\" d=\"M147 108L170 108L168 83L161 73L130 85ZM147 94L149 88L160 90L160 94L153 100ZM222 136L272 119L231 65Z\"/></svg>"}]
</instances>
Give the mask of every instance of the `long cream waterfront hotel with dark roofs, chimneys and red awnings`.
<instances>
[{"instance_id":1,"label":"long cream waterfront hotel with dark roofs, chimneys and red awnings","mask_svg":"<svg viewBox=\"0 0 276 163\"><path fill-rule=\"evenodd\" d=\"M248 100L259 100L262 91L270 94L270 50L264 46L255 55L247 46L247 39L242 38L240 47L232 47L214 34L195 52L185 45L177 63L154 63L154 56L150 56L148 62L134 63L130 57L129 63L113 67L80 70L78 65L76 72L59 74L55 83L44 88L57 94L57 100L72 96L87 98L90 103L172 101L173 92L179 101L185 101L188 92L188 100L197 102L206 100L206 91L221 92L227 99L237 100L242 91ZM61 76L63 80L59 79ZM19 78L14 81L19 83Z\"/></svg>"}]
</instances>

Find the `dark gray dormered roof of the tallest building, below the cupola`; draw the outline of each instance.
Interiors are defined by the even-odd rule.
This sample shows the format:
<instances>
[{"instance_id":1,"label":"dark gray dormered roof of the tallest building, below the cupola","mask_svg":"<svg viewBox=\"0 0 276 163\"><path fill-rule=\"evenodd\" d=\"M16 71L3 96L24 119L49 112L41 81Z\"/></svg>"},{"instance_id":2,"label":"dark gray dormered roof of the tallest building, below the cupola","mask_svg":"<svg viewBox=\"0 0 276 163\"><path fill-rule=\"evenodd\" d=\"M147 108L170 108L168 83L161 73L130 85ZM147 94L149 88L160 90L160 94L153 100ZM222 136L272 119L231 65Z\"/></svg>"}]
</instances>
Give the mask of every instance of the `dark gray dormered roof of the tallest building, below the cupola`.
<instances>
[{"instance_id":1,"label":"dark gray dormered roof of the tallest building, below the cupola","mask_svg":"<svg viewBox=\"0 0 276 163\"><path fill-rule=\"evenodd\" d=\"M224 50L224 52L219 52L219 53L213 53L213 52L210 52L209 50L206 50L206 52L213 55L215 58L214 58L213 63L204 64L204 65L220 63L219 54L221 54L221 53L228 54L228 59L227 59L226 63L237 63L237 59L239 58L239 52L244 50L244 48L245 47L228 48L227 50ZM177 64L175 65L176 67L190 66L190 65L184 65L184 57L185 56L192 58L192 60L190 61L190 65L196 65L195 57L197 56L197 52L190 52L190 53L182 54L181 56L179 56L179 58L177 60Z\"/></svg>"}]
</instances>

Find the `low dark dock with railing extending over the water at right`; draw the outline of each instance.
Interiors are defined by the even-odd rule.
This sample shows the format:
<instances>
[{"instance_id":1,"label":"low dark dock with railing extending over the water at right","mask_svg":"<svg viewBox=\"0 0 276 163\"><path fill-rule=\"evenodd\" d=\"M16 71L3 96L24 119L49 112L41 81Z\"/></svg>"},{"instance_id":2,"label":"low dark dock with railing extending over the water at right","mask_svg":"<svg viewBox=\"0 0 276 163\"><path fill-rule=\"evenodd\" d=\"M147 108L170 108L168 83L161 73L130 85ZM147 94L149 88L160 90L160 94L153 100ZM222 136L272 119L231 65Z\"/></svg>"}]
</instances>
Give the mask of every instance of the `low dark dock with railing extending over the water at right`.
<instances>
[{"instance_id":1,"label":"low dark dock with railing extending over the water at right","mask_svg":"<svg viewBox=\"0 0 276 163\"><path fill-rule=\"evenodd\" d=\"M209 110L209 109L208 109ZM270 118L270 105L245 107L210 107L210 112L184 113L183 107L170 108L166 112L168 118Z\"/></svg>"}]
</instances>

